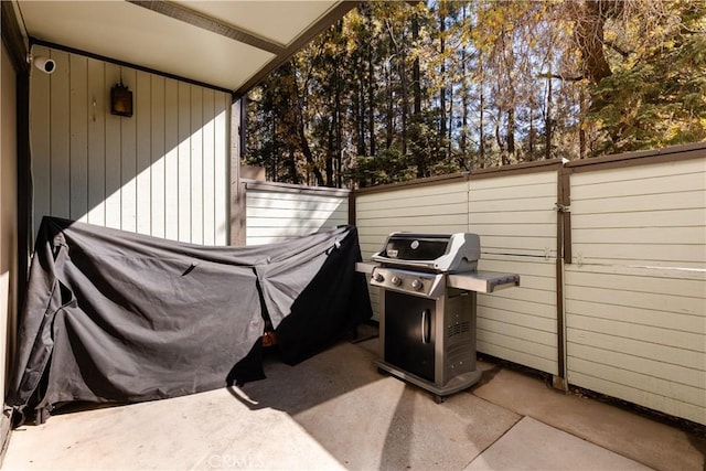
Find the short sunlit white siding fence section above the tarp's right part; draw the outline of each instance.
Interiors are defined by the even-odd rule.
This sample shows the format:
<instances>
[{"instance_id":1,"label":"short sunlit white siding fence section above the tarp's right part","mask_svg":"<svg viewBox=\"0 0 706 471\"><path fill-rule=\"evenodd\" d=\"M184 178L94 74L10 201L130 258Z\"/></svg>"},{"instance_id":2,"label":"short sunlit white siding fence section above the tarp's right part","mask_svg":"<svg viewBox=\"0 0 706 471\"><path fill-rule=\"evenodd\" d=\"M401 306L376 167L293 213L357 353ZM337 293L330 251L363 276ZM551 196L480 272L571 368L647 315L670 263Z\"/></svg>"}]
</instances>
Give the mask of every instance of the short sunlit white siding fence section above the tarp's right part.
<instances>
[{"instance_id":1,"label":"short sunlit white siding fence section above the tarp's right part","mask_svg":"<svg viewBox=\"0 0 706 471\"><path fill-rule=\"evenodd\" d=\"M274 244L349 224L347 190L245 183L246 245Z\"/></svg>"}]
</instances>

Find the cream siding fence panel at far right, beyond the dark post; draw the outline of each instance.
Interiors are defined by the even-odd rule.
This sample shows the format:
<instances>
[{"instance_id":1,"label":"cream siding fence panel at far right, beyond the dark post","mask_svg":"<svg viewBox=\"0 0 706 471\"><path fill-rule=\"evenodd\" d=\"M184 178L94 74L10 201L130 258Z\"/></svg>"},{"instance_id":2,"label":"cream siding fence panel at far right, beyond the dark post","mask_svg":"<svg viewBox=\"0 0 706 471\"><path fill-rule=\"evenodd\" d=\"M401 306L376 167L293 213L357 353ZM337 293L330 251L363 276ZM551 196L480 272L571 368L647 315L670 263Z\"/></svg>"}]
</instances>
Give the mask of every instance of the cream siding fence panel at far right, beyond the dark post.
<instances>
[{"instance_id":1,"label":"cream siding fence panel at far right, beyond the dark post","mask_svg":"<svg viewBox=\"0 0 706 471\"><path fill-rule=\"evenodd\" d=\"M706 424L704 159L571 175L571 384Z\"/></svg>"}]
</instances>

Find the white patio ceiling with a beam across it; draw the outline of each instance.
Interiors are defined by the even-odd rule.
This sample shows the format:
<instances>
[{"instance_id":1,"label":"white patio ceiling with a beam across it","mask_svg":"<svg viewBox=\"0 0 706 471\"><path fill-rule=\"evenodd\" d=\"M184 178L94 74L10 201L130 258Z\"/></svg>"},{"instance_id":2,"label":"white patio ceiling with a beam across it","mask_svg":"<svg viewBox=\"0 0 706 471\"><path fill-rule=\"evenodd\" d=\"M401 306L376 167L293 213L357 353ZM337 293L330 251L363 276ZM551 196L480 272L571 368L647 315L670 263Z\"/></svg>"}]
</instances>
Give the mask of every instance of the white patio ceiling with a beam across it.
<instances>
[{"instance_id":1,"label":"white patio ceiling with a beam across it","mask_svg":"<svg viewBox=\"0 0 706 471\"><path fill-rule=\"evenodd\" d=\"M42 43L242 94L355 2L20 0L17 4L26 34Z\"/></svg>"}]
</instances>

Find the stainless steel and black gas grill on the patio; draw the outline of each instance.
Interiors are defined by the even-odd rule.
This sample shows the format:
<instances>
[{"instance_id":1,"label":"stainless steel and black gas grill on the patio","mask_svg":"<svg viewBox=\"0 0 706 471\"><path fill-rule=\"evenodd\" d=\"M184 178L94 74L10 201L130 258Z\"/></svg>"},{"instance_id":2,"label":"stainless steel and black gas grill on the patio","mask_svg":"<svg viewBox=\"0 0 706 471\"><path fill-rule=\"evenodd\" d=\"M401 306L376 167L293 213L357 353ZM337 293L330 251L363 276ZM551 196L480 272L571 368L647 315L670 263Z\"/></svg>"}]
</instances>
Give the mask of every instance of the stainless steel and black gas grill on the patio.
<instances>
[{"instance_id":1,"label":"stainless steel and black gas grill on the patio","mask_svg":"<svg viewBox=\"0 0 706 471\"><path fill-rule=\"evenodd\" d=\"M381 288L376 364L434 394L437 403L480 379L477 292L520 286L520 276L478 271L477 234L393 233L373 255Z\"/></svg>"}]
</instances>

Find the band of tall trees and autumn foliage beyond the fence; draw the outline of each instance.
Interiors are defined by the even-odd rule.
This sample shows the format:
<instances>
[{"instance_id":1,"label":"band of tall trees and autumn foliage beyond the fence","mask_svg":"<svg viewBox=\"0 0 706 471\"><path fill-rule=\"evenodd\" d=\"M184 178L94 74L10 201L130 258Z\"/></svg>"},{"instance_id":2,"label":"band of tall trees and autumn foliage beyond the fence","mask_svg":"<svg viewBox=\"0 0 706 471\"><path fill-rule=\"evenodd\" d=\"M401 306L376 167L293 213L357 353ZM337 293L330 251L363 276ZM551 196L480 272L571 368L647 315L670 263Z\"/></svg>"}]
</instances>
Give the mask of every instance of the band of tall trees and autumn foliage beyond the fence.
<instances>
[{"instance_id":1,"label":"band of tall trees and autumn foliage beyond the fence","mask_svg":"<svg viewBox=\"0 0 706 471\"><path fill-rule=\"evenodd\" d=\"M706 2L362 2L248 96L270 180L368 186L706 139Z\"/></svg>"}]
</instances>

